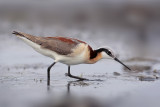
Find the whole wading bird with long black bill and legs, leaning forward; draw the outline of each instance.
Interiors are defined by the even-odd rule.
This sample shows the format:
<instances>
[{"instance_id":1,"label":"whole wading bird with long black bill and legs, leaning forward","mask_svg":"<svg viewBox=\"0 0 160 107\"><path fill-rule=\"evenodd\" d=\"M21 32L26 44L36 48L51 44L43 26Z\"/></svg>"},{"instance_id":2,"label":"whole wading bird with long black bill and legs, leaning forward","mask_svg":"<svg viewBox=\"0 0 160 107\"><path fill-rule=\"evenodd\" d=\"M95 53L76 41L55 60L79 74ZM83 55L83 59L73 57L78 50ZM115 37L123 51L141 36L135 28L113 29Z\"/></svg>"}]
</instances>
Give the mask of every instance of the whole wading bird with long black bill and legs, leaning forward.
<instances>
[{"instance_id":1,"label":"whole wading bird with long black bill and legs, leaning forward","mask_svg":"<svg viewBox=\"0 0 160 107\"><path fill-rule=\"evenodd\" d=\"M71 75L70 66L77 64L93 64L100 59L114 59L131 70L120 60L118 60L113 52L106 48L93 50L87 43L68 37L38 37L22 32L13 31L17 37L30 45L37 52L51 57L54 62L47 69L47 85L50 85L50 69L57 63L61 62L68 65L68 76L79 80L87 80L86 78Z\"/></svg>"}]
</instances>

